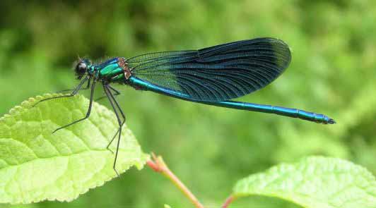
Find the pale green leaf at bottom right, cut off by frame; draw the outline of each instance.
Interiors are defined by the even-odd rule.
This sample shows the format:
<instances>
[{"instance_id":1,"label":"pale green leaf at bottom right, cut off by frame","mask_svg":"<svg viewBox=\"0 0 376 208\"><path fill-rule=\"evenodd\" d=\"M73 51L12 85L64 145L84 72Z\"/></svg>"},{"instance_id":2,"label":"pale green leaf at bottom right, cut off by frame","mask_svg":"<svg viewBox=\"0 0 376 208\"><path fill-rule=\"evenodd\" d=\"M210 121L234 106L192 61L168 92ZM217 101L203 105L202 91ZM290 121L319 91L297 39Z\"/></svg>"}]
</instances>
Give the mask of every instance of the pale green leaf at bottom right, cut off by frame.
<instances>
[{"instance_id":1,"label":"pale green leaf at bottom right, cut off by frame","mask_svg":"<svg viewBox=\"0 0 376 208\"><path fill-rule=\"evenodd\" d=\"M238 181L234 197L279 197L311 208L376 207L375 176L343 159L307 157Z\"/></svg>"}]
</instances>

